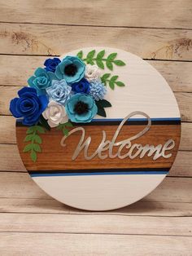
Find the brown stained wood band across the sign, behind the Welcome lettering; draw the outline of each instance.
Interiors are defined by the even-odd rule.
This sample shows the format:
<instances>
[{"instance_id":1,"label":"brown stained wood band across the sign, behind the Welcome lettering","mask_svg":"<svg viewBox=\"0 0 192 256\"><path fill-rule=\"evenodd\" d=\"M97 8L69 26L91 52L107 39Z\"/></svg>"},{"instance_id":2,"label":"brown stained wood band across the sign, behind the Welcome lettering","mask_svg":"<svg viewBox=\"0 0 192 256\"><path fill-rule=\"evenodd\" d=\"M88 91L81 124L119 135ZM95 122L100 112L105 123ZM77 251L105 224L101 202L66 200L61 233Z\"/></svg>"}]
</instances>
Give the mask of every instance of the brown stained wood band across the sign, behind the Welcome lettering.
<instances>
[{"instance_id":1,"label":"brown stained wood band across the sign, behind the Welcome lettering","mask_svg":"<svg viewBox=\"0 0 192 256\"><path fill-rule=\"evenodd\" d=\"M78 125L75 127L79 127ZM74 128L75 128L74 127ZM113 136L116 133L118 126L81 126L85 129L85 139L88 136L91 137L91 143L89 144L88 156L94 154L99 147L99 144L102 142L103 133L102 130L106 131L106 140L112 140ZM123 126L120 130L120 133L116 139L116 142L119 142L124 139L129 139L134 135L137 135L139 132L145 129L146 126ZM37 161L34 163L28 152L23 152L24 147L27 143L24 143L24 138L26 136L26 130L28 128L25 126L17 126L16 127L16 138L17 144L20 151L20 156L22 161L24 162L24 166L27 170L84 170L84 169L126 169L128 168L170 168L172 163L176 157L177 150L179 147L180 141L180 125L152 125L150 130L147 131L145 135L142 135L138 139L134 139L133 143L141 143L142 147L146 144L149 145L159 145L166 143L168 139L173 139L175 141L175 147L172 150L167 151L165 154L168 155L172 153L172 157L164 158L159 157L155 161L153 157L145 157L140 158L140 154L134 159L130 159L126 157L122 160L120 158L110 158L109 152L104 151L102 153L103 156L106 156L104 160L101 160L98 157L98 154L93 157L90 161L85 160L84 150L80 152L78 157L73 161L72 155L76 150L77 144L81 139L81 132L74 133L72 135L68 135L66 139L66 147L61 147L60 141L63 138L63 134L61 131L56 129L51 129L45 135L41 135L42 143L41 143L41 153L37 154ZM84 141L85 141L84 139ZM120 147L113 148L113 154L118 153ZM124 156L129 152L129 149L123 147L120 155ZM137 150L133 150L133 154L137 152Z\"/></svg>"}]
</instances>

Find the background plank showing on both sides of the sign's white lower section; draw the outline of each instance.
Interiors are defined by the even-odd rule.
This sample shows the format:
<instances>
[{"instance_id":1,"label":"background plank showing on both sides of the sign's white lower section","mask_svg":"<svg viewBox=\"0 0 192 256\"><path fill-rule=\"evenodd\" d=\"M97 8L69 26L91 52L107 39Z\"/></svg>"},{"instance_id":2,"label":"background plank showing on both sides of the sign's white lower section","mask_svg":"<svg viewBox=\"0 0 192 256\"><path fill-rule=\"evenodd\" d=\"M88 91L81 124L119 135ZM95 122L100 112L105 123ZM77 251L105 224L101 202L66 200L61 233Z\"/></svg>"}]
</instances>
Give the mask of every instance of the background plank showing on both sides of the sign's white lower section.
<instances>
[{"instance_id":1,"label":"background plank showing on both sides of the sign's white lower section","mask_svg":"<svg viewBox=\"0 0 192 256\"><path fill-rule=\"evenodd\" d=\"M0 173L0 188L0 198L50 199L27 173ZM167 177L142 201L192 203L192 179Z\"/></svg>"}]
</instances>

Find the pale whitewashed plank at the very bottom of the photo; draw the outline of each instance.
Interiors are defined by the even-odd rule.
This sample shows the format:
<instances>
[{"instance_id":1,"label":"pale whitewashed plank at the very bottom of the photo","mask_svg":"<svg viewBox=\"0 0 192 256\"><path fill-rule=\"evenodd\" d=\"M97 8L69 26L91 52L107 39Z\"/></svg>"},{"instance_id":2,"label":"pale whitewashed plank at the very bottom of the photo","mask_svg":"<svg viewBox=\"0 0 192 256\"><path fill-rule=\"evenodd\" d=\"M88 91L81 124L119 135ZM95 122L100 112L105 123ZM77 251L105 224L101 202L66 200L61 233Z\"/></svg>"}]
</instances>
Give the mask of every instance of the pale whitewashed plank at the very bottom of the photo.
<instances>
[{"instance_id":1,"label":"pale whitewashed plank at the very bottom of the photo","mask_svg":"<svg viewBox=\"0 0 192 256\"><path fill-rule=\"evenodd\" d=\"M149 242L150 241L150 242ZM190 256L191 237L104 234L14 233L0 234L2 255L185 255ZM34 246L35 245L35 246Z\"/></svg>"}]
</instances>

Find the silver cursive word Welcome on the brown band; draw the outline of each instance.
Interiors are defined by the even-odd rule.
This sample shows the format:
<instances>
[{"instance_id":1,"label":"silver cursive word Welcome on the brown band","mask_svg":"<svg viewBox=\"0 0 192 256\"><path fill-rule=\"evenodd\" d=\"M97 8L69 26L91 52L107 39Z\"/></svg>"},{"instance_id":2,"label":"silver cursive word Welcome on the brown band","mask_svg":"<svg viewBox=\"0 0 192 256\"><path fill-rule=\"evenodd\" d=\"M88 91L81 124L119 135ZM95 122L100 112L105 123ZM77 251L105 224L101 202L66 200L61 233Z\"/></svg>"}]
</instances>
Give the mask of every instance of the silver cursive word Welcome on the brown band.
<instances>
[{"instance_id":1,"label":"silver cursive word Welcome on the brown band","mask_svg":"<svg viewBox=\"0 0 192 256\"><path fill-rule=\"evenodd\" d=\"M146 127L140 131L137 135L132 136L129 139L123 139L121 141L117 141L117 137L120 134L120 130L122 128L122 126L124 126L125 121L128 121L130 117L133 117L135 115L142 115L143 117L147 118L147 125ZM143 135L146 134L146 132L148 130L150 130L151 127L151 118L143 112L140 111L136 111L133 113L130 113L127 117L124 118L123 121L120 122L120 126L118 126L115 135L113 136L113 138L110 140L107 140L107 135L106 135L106 131L103 130L103 139L101 141L101 143L98 145L98 148L95 150L94 153L92 153L91 155L89 155L88 151L89 151L89 144L91 143L91 137L89 136L87 139L85 139L85 129L83 127L77 127L72 129L69 133L68 136L64 136L61 139L61 146L65 147L66 143L65 140L72 134L81 131L81 139L79 140L78 145L76 146L76 150L72 155L72 160L75 160L76 157L78 157L78 155L80 154L81 151L84 150L84 157L86 160L91 160L92 158L94 158L95 156L98 155L98 157L100 159L105 159L107 157L110 158L120 158L120 159L124 159L126 157L129 157L130 159L133 159L135 157L151 157L153 156L153 160L158 159L159 157L164 157L164 158L169 158L172 157L172 153L167 153L167 151L171 150L172 148L174 148L175 146L175 142L173 139L168 139L168 141L166 143L164 143L164 145L159 144L157 146L154 145L142 145L140 143L133 143L134 139L138 139L140 137L142 137ZM115 147L119 147L117 152L114 153L113 149ZM122 153L122 150L126 148L127 152L126 153Z\"/></svg>"}]
</instances>

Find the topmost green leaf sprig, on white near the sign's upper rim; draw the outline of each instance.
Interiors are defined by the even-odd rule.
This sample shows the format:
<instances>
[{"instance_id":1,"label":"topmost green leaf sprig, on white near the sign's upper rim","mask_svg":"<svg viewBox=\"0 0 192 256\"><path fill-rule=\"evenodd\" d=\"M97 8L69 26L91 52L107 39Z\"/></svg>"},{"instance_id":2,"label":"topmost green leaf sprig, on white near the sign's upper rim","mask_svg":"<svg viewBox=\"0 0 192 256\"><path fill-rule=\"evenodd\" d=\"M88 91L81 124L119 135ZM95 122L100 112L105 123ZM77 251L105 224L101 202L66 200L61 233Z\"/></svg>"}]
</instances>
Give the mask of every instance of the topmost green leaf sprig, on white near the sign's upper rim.
<instances>
[{"instance_id":1,"label":"topmost green leaf sprig, on white near the sign's upper rim","mask_svg":"<svg viewBox=\"0 0 192 256\"><path fill-rule=\"evenodd\" d=\"M83 55L83 51L79 51L77 53L77 57L79 57L81 60L85 61L87 64L97 64L98 68L104 69L104 64L106 64L107 68L112 71L114 64L116 64L116 66L125 65L123 60L116 60L116 52L112 52L110 55L107 55L107 58L104 58L104 55L105 50L99 51L97 55L95 50L89 51L85 57Z\"/></svg>"}]
</instances>

